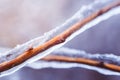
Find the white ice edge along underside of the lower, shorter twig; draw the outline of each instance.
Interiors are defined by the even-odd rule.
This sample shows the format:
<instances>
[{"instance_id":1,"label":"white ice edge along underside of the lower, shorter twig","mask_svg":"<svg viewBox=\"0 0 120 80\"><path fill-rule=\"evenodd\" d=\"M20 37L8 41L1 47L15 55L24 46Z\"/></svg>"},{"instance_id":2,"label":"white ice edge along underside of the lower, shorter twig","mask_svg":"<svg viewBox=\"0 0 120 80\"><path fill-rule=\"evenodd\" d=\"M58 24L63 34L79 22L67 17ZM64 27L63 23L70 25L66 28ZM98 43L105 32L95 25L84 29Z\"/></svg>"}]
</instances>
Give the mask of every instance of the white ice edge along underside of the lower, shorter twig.
<instances>
[{"instance_id":1,"label":"white ice edge along underside of the lower, shorter twig","mask_svg":"<svg viewBox=\"0 0 120 80\"><path fill-rule=\"evenodd\" d=\"M107 70L107 69L103 69L103 68L99 68L95 66L90 66L86 64L78 64L78 63L37 61L37 62L27 65L27 67L30 67L32 69L44 69L44 68L66 69L66 68L77 67L77 68L94 70L104 75L119 75L120 76L119 72L114 72L111 70Z\"/></svg>"}]
</instances>

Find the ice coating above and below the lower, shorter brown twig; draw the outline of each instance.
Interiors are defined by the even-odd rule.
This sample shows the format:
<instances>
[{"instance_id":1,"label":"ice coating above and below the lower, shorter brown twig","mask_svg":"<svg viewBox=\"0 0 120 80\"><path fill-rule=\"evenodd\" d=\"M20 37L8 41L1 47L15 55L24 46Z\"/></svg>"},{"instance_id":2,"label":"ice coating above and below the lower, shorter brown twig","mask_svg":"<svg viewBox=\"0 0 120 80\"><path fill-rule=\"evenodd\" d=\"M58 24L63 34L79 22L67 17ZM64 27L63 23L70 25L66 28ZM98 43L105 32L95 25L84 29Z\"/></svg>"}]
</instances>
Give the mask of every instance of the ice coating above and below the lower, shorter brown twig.
<instances>
[{"instance_id":1,"label":"ice coating above and below the lower, shorter brown twig","mask_svg":"<svg viewBox=\"0 0 120 80\"><path fill-rule=\"evenodd\" d=\"M71 48L62 47L60 49L55 50L52 54L54 55L62 55L62 56L70 56L70 57L82 57L88 59L100 60L108 63L115 63L116 65L120 65L120 56L114 54L90 54L86 53L83 50L76 50ZM58 62L58 61L43 61L39 60L32 64L27 65L27 67L33 69L43 69L43 68L73 68L73 67L81 67L85 69L95 70L104 75L120 75L119 72L98 68L95 66L80 64L80 63L67 63L67 62Z\"/></svg>"}]
</instances>

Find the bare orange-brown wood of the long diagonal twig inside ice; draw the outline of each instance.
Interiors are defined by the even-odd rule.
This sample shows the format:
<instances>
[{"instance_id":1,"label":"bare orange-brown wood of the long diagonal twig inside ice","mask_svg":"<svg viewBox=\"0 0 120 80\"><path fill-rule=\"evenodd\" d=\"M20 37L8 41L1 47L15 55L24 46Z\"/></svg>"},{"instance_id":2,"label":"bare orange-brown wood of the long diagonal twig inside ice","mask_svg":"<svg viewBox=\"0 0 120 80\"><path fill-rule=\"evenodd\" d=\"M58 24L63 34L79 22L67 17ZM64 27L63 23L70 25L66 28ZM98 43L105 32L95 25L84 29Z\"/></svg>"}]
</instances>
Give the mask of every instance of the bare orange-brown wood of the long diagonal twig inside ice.
<instances>
[{"instance_id":1,"label":"bare orange-brown wood of the long diagonal twig inside ice","mask_svg":"<svg viewBox=\"0 0 120 80\"><path fill-rule=\"evenodd\" d=\"M35 48L30 48L28 51L22 53L21 55L14 58L13 60L1 63L0 64L0 72L8 70L8 69L10 69L14 66L17 66L17 65L23 63L24 61L28 60L29 58L39 54L40 52L43 52L43 51L45 51L45 50L47 50L47 49L49 49L49 48L51 48L51 47L53 47L57 44L63 43L69 36L71 36L71 34L76 32L78 29L80 29L86 23L92 21L96 17L106 13L110 9L112 9L116 6L119 6L119 5L120 5L120 1L117 2L117 3L113 3L109 6L106 6L102 9L100 9L99 11L93 13L92 15L88 16L87 18L83 19L82 21L77 22L72 27L68 28L66 31L64 31L63 33L55 36L54 38L45 42L44 44L42 44L38 47L35 47Z\"/></svg>"}]
</instances>

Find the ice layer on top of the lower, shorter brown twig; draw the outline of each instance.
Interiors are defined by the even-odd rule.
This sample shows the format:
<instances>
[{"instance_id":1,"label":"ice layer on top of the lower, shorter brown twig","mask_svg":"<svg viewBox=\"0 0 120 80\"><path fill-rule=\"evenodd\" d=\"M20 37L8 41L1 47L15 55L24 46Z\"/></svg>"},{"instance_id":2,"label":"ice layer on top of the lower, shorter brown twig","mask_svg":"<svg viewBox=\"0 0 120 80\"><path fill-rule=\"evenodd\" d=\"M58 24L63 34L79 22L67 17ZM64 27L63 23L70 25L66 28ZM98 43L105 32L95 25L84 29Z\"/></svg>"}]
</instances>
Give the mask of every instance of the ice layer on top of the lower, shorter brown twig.
<instances>
[{"instance_id":1,"label":"ice layer on top of the lower, shorter brown twig","mask_svg":"<svg viewBox=\"0 0 120 80\"><path fill-rule=\"evenodd\" d=\"M53 54L69 56L69 57L82 57L82 58L94 59L94 60L98 60L98 61L103 61L103 62L107 62L107 63L113 63L116 65L120 65L120 56L114 55L112 53L91 54L91 53L86 53L83 50L62 47L60 49L55 50L53 52Z\"/></svg>"}]
</instances>

